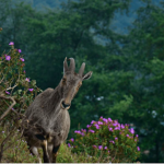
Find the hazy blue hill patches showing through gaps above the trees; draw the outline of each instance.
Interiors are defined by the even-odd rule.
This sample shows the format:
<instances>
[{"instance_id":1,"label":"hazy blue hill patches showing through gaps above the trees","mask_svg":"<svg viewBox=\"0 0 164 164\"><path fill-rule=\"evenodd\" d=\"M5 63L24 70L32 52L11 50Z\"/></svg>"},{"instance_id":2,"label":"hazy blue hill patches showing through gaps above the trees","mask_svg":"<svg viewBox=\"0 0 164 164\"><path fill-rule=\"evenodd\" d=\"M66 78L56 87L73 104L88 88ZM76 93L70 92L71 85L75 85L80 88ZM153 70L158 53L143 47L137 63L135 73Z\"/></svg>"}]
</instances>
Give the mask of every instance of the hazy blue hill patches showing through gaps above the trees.
<instances>
[{"instance_id":1,"label":"hazy blue hill patches showing through gaps above the trees","mask_svg":"<svg viewBox=\"0 0 164 164\"><path fill-rule=\"evenodd\" d=\"M24 2L31 4L33 8L35 8L38 11L46 11L46 9L61 9L62 3L67 3L68 0L12 0L13 2ZM72 0L71 0L72 1ZM73 0L78 1L78 0ZM154 4L160 4L160 1L162 0L152 0ZM112 30L114 30L116 33L120 34L127 34L128 33L128 26L132 24L134 19L137 17L136 11L143 7L144 3L139 0L132 0L129 8L129 14L127 15L126 12L124 13L116 13L112 23Z\"/></svg>"}]
</instances>

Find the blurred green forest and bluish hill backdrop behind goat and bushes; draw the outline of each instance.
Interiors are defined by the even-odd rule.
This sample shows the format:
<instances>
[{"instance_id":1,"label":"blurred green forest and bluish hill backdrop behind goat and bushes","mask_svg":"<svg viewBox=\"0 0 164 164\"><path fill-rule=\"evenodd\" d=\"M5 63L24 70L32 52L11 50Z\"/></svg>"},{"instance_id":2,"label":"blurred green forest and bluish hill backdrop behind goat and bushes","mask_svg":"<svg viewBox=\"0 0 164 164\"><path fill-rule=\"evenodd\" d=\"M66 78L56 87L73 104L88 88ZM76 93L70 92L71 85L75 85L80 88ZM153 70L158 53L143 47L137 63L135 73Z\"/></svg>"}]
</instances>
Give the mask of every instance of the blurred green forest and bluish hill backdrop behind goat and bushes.
<instances>
[{"instance_id":1,"label":"blurred green forest and bluish hill backdrop behind goat and bushes","mask_svg":"<svg viewBox=\"0 0 164 164\"><path fill-rule=\"evenodd\" d=\"M140 162L164 162L163 0L0 0L0 52L22 49L27 78L45 90L65 57L93 71L69 110L71 131L101 116L130 124ZM148 152L148 153L147 153Z\"/></svg>"}]
</instances>

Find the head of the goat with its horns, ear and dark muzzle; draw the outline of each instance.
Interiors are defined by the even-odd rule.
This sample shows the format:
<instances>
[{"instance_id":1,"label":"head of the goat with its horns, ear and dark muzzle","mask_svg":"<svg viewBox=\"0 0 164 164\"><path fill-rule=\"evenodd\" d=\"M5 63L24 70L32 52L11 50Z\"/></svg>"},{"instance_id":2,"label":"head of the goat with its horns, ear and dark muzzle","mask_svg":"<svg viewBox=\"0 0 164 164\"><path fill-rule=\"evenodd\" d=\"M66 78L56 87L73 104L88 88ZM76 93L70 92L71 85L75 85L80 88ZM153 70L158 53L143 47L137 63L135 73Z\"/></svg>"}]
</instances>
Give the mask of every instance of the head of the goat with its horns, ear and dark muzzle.
<instances>
[{"instance_id":1,"label":"head of the goat with its horns, ear and dark muzzle","mask_svg":"<svg viewBox=\"0 0 164 164\"><path fill-rule=\"evenodd\" d=\"M92 75L92 72L87 72L83 75L85 68L85 62L82 63L79 73L74 72L75 63L74 59L70 58L70 66L68 67L67 58L63 61L63 78L60 81L60 87L61 87L61 103L60 106L62 109L69 109L71 106L71 101L75 96L75 94L79 91L79 87L82 85L82 81L90 79Z\"/></svg>"}]
</instances>

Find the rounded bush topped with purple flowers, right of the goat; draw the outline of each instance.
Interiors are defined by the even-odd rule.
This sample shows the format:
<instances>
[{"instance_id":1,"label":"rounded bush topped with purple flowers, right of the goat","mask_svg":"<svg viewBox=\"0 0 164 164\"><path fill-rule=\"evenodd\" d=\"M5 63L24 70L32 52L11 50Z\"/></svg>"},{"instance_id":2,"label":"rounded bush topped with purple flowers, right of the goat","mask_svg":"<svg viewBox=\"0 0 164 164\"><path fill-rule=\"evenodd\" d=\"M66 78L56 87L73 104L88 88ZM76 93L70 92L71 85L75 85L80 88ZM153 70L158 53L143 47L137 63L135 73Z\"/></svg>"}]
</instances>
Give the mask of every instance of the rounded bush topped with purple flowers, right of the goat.
<instances>
[{"instance_id":1,"label":"rounded bush topped with purple flowers, right of the goat","mask_svg":"<svg viewBox=\"0 0 164 164\"><path fill-rule=\"evenodd\" d=\"M129 125L101 117L91 121L86 129L75 130L75 139L68 147L73 153L85 153L90 157L99 157L99 162L134 162L140 155L139 141Z\"/></svg>"}]
</instances>

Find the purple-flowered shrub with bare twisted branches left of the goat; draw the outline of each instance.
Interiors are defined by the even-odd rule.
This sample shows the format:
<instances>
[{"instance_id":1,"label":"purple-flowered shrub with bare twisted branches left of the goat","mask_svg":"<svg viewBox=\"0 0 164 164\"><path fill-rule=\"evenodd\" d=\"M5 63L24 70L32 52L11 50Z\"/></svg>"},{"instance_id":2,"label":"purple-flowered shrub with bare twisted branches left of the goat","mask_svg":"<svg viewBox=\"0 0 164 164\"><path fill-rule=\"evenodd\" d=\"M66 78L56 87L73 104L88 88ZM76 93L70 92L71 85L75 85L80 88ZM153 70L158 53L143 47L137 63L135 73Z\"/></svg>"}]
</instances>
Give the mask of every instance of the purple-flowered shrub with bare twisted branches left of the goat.
<instances>
[{"instance_id":1,"label":"purple-flowered shrub with bare twisted branches left of the goat","mask_svg":"<svg viewBox=\"0 0 164 164\"><path fill-rule=\"evenodd\" d=\"M0 140L0 162L4 151L12 147L13 138L15 140L22 138L16 134L15 129L21 127L21 118L24 117L25 109L37 93L42 92L36 86L36 81L31 81L26 77L21 49L15 49L13 42L9 46L11 49L0 57L0 124L7 132Z\"/></svg>"}]
</instances>

